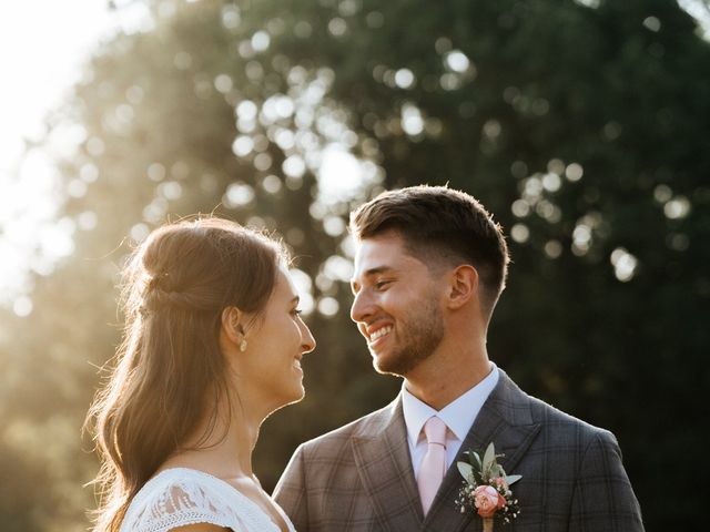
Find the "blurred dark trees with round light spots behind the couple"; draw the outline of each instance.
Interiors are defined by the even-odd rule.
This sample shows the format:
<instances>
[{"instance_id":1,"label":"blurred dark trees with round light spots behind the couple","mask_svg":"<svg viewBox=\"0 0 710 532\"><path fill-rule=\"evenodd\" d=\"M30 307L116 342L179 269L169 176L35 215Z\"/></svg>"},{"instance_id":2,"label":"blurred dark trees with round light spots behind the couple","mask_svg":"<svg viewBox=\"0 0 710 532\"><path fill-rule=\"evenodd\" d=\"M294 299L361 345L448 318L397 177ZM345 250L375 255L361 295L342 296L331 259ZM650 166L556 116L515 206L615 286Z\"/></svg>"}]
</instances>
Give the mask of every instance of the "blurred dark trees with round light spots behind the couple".
<instances>
[{"instance_id":1,"label":"blurred dark trees with round light spots behind the couple","mask_svg":"<svg viewBox=\"0 0 710 532\"><path fill-rule=\"evenodd\" d=\"M87 498L67 485L95 464L71 438L97 386L88 362L103 365L119 341L108 324L120 323L112 285L130 241L216 209L293 247L318 349L306 399L260 439L255 469L271 488L298 442L398 387L374 375L347 317L347 213L382 187L448 182L510 234L494 360L618 436L649 530L701 524L700 491L669 505L658 490L707 440L697 390L710 380L710 50L676 3L118 9L144 12L143 30L105 43L52 129L82 132L61 163L75 252L0 344L11 361L1 393L16 398L1 449L36 450L37 482L64 518L52 524L50 507L26 500L0 504L0 519L81 523ZM692 459L702 478L708 458Z\"/></svg>"}]
</instances>

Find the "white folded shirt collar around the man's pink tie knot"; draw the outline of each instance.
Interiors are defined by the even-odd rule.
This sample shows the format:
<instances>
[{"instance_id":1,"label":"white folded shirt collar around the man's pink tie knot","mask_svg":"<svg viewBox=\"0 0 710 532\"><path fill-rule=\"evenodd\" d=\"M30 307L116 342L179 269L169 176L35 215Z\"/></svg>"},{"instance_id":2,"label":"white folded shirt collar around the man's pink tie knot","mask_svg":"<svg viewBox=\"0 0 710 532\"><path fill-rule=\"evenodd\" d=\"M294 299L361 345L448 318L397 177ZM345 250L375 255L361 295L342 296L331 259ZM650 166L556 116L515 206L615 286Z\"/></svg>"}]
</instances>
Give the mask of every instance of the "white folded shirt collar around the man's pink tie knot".
<instances>
[{"instance_id":1,"label":"white folded shirt collar around the man's pink tie knot","mask_svg":"<svg viewBox=\"0 0 710 532\"><path fill-rule=\"evenodd\" d=\"M494 362L490 362L490 366L493 369L484 380L439 411L434 410L427 403L414 397L403 385L402 410L409 441L416 446L424 423L432 416L436 416L444 421L456 439L464 441L484 402L486 402L486 399L488 399L488 396L498 383L498 367Z\"/></svg>"}]
</instances>

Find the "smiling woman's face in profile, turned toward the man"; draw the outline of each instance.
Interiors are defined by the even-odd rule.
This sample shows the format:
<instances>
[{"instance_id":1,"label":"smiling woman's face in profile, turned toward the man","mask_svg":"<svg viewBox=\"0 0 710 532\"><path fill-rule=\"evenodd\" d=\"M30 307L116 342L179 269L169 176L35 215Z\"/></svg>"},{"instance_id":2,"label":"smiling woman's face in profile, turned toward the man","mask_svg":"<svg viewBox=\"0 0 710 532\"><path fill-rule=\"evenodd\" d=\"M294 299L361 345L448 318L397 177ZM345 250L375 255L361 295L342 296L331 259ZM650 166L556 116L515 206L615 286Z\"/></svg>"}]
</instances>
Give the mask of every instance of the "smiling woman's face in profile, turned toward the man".
<instances>
[{"instance_id":1,"label":"smiling woman's face in profile, turned toward the man","mask_svg":"<svg viewBox=\"0 0 710 532\"><path fill-rule=\"evenodd\" d=\"M303 399L301 359L315 348L298 310L298 295L285 267L264 311L246 328L247 347L239 354L240 388L250 390L271 411Z\"/></svg>"}]
</instances>

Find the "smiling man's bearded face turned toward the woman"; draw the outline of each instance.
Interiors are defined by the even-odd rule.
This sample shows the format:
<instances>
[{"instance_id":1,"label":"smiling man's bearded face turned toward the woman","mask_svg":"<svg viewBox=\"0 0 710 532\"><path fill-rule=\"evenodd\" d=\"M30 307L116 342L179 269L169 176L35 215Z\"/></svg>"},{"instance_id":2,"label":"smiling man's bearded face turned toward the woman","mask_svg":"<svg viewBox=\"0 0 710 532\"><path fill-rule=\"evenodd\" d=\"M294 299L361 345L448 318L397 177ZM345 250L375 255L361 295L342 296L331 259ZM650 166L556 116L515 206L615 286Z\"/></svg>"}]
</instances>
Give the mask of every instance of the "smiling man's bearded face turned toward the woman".
<instances>
[{"instance_id":1,"label":"smiling man's bearded face turned toward the woman","mask_svg":"<svg viewBox=\"0 0 710 532\"><path fill-rule=\"evenodd\" d=\"M444 286L387 232L359 243L351 318L367 340L375 369L406 377L444 337Z\"/></svg>"}]
</instances>

